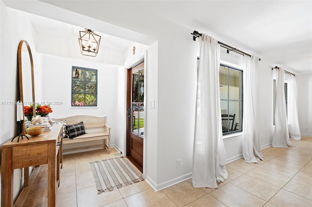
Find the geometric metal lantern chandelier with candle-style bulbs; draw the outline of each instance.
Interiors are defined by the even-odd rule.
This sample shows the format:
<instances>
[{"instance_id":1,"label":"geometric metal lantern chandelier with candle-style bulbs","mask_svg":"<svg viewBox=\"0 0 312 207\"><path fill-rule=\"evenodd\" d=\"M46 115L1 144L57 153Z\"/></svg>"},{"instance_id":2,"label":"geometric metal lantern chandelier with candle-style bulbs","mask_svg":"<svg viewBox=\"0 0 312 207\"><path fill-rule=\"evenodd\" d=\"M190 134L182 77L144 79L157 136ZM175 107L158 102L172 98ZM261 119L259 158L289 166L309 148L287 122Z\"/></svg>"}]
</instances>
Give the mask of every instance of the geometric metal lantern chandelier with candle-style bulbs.
<instances>
[{"instance_id":1,"label":"geometric metal lantern chandelier with candle-style bulbs","mask_svg":"<svg viewBox=\"0 0 312 207\"><path fill-rule=\"evenodd\" d=\"M97 35L90 29L79 31L79 45L81 54L84 56L97 56L98 46L101 36Z\"/></svg>"}]
</instances>

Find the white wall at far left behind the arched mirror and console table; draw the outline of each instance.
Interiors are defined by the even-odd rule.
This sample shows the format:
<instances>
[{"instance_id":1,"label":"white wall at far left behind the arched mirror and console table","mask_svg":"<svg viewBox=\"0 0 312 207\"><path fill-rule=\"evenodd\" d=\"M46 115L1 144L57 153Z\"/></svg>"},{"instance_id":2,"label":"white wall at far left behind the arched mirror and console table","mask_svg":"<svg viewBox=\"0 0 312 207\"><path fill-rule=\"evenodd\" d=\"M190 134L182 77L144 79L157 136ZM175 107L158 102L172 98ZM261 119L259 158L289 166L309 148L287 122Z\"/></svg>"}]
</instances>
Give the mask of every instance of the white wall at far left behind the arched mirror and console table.
<instances>
[{"instance_id":1,"label":"white wall at far left behind the arched mirror and console table","mask_svg":"<svg viewBox=\"0 0 312 207\"><path fill-rule=\"evenodd\" d=\"M17 51L21 39L28 41L36 58L33 27L25 13L7 8L0 1L0 144L17 135L16 106L13 102L20 100ZM31 89L29 89L31 90ZM23 184L21 169L14 170L14 192L16 197Z\"/></svg>"}]
</instances>

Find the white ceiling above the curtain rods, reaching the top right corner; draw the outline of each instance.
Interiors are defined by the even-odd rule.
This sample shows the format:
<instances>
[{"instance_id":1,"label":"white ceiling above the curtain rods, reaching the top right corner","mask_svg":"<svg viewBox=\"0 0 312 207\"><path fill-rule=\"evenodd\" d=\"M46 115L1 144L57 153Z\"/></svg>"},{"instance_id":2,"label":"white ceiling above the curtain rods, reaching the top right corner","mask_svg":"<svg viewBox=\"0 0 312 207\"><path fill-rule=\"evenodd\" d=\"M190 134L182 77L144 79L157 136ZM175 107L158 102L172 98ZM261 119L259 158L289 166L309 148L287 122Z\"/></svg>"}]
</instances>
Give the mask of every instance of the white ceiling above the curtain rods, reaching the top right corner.
<instances>
[{"instance_id":1,"label":"white ceiling above the curtain rods, reaching the top right corner","mask_svg":"<svg viewBox=\"0 0 312 207\"><path fill-rule=\"evenodd\" d=\"M146 14L146 17L166 19L189 28L190 33L197 30L215 35L222 42L241 47L243 51L246 50L245 52L252 51L252 55L255 53L260 58L266 59L272 66L284 67L294 74L312 73L312 0L41 0L41 2L102 21L110 20L110 23L114 23L114 19L108 19L107 14L114 13L116 9L127 10L128 14L129 11L140 12L142 18ZM123 18L131 17L125 15ZM38 32L48 32L46 23L35 19L32 22ZM53 29L51 25L52 22L49 23L49 28ZM66 28L65 26L63 23L62 28ZM68 32L78 29L72 25L68 26L66 29ZM111 40L112 48L117 50L123 50L130 44L121 38L107 37Z\"/></svg>"}]
</instances>

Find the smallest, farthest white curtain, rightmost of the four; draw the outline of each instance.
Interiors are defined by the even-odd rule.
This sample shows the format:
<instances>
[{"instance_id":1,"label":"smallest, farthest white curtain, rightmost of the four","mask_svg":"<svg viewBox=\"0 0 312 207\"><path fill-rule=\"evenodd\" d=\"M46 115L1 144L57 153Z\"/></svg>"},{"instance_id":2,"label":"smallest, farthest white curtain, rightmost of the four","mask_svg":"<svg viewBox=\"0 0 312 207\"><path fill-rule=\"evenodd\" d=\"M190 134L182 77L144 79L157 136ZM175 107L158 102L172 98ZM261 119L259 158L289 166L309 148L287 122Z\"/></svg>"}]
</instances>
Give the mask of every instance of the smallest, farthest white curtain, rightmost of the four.
<instances>
[{"instance_id":1,"label":"smallest, farthest white curtain, rightmost of the four","mask_svg":"<svg viewBox=\"0 0 312 207\"><path fill-rule=\"evenodd\" d=\"M291 139L300 140L301 133L298 121L298 106L297 106L297 87L296 77L290 75L289 83L289 103L288 103L288 127Z\"/></svg>"}]
</instances>

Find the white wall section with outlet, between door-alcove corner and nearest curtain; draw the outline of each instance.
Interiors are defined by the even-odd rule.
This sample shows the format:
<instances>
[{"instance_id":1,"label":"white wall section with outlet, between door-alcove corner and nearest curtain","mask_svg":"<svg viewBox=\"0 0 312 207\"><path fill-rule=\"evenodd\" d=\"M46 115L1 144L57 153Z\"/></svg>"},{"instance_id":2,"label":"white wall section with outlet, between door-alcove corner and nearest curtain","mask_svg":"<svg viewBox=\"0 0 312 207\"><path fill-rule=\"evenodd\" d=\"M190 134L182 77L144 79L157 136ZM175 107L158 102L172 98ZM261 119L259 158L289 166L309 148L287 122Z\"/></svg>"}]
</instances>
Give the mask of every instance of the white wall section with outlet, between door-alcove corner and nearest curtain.
<instances>
[{"instance_id":1,"label":"white wall section with outlet, between door-alcove corner and nearest curtain","mask_svg":"<svg viewBox=\"0 0 312 207\"><path fill-rule=\"evenodd\" d=\"M158 31L157 189L191 176L197 43L189 30L160 22ZM170 29L168 29L170 28ZM176 168L176 160L181 160Z\"/></svg>"}]
</instances>

